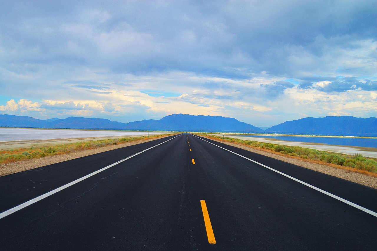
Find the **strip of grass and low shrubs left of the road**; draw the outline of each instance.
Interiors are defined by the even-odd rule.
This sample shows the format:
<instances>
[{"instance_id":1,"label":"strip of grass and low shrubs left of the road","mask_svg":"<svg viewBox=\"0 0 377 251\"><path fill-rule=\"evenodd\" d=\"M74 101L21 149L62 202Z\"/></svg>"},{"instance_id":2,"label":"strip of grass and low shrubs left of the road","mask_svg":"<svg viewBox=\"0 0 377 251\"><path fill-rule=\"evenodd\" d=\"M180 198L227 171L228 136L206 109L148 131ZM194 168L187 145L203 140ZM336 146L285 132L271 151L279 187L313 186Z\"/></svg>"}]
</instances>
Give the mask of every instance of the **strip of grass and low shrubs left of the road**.
<instances>
[{"instance_id":1,"label":"strip of grass and low shrubs left of the road","mask_svg":"<svg viewBox=\"0 0 377 251\"><path fill-rule=\"evenodd\" d=\"M149 139L166 136L168 134L161 134L149 137ZM169 134L170 135L170 134ZM64 144L57 146L46 146L46 147L31 147L27 149L11 149L0 151L0 164L5 164L9 162L16 162L26 159L36 159L43 158L46 156L53 156L57 154L67 154L70 152L84 151L87 149L100 148L110 145L118 145L126 142L133 142L139 140L147 140L146 136L141 137L128 137L121 139L107 139L107 140L96 140L90 142L77 142L73 144Z\"/></svg>"}]
</instances>

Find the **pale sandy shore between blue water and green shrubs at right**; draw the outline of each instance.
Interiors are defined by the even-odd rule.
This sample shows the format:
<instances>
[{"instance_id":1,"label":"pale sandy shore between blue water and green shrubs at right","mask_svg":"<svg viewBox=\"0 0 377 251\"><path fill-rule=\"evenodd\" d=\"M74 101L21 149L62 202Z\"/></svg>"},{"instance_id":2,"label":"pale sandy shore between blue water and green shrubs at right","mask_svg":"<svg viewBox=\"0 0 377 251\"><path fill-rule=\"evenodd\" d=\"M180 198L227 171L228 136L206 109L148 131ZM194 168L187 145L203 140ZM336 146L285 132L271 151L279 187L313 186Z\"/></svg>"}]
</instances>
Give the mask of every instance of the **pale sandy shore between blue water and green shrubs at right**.
<instances>
[{"instance_id":1,"label":"pale sandy shore between blue water and green shrubs at right","mask_svg":"<svg viewBox=\"0 0 377 251\"><path fill-rule=\"evenodd\" d=\"M222 134L213 134L222 137ZM279 139L266 139L259 137L243 137L238 135L227 135L228 138L242 139L242 140L253 140L257 142L273 143L286 146L300 146L310 149L316 149L326 152L338 152L343 154L354 155L356 153L362 154L365 157L377 158L377 148L372 147L359 147L359 146L335 146L327 145L321 143L306 143L306 142L295 142L295 141L285 141Z\"/></svg>"}]
</instances>

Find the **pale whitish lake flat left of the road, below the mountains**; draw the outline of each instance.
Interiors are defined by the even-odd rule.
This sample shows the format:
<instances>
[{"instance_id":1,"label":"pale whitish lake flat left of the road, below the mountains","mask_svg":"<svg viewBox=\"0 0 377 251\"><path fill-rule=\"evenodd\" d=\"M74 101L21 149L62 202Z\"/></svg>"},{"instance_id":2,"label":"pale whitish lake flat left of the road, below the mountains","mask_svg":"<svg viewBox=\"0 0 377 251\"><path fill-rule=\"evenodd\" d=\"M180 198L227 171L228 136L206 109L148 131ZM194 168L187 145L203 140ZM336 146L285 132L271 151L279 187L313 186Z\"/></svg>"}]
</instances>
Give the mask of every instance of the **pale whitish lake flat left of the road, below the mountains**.
<instances>
[{"instance_id":1,"label":"pale whitish lake flat left of the road, below the mountains","mask_svg":"<svg viewBox=\"0 0 377 251\"><path fill-rule=\"evenodd\" d=\"M148 132L130 131L87 131L87 130L56 130L56 129L30 129L30 128L0 128L0 142L18 140L48 140L48 139L74 139L94 137L130 137L144 136ZM149 135L161 132L149 132Z\"/></svg>"}]
</instances>

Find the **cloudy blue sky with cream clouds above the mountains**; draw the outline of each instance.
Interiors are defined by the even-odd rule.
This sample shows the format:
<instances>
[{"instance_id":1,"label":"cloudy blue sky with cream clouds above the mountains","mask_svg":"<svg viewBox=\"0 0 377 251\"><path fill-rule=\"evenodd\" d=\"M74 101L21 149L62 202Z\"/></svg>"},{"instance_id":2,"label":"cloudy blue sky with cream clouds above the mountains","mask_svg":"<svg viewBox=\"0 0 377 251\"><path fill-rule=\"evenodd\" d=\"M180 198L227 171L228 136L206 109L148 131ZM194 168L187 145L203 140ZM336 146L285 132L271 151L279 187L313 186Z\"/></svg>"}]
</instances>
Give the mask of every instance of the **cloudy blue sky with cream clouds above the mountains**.
<instances>
[{"instance_id":1,"label":"cloudy blue sky with cream clouds above the mountains","mask_svg":"<svg viewBox=\"0 0 377 251\"><path fill-rule=\"evenodd\" d=\"M0 114L377 116L377 1L0 0Z\"/></svg>"}]
</instances>

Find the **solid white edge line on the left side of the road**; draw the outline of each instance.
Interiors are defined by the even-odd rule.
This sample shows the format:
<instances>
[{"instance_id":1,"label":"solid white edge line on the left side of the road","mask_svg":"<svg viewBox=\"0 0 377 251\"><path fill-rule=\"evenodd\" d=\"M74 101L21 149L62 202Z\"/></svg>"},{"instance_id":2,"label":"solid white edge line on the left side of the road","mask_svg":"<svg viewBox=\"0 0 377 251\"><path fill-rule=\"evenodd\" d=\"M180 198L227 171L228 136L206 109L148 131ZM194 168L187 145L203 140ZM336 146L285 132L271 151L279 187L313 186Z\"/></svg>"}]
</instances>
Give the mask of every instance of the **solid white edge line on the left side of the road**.
<instances>
[{"instance_id":1,"label":"solid white edge line on the left side of the road","mask_svg":"<svg viewBox=\"0 0 377 251\"><path fill-rule=\"evenodd\" d=\"M179 134L179 135L180 135L180 134ZM179 135L178 135L178 136L179 136ZM175 136L175 137L172 138L172 139L175 139L175 138L178 137L178 136ZM169 140L172 140L172 139L169 139ZM56 188L56 189L54 189L54 190L52 190L52 191L46 192L45 194L42 194L41 196L35 197L34 199L31 199L31 200L29 200L29 201L27 201L27 202L24 202L24 203L22 203L22 204L20 204L20 205L18 205L18 206L15 206L14 208L8 209L8 210L6 210L6 211L4 211L3 213L0 214L0 219L2 219L2 218L4 218L4 217L8 216L9 214L12 214L12 213L14 213L14 212L17 212L17 211L20 210L20 209L26 208L27 206L30 206L30 205L34 204L35 202L38 202L38 201L40 201L40 200L43 200L44 198L46 198L46 197L48 197L48 196L50 196L50 195L52 195L52 194L55 194L55 193L57 193L57 192L59 192L59 191L65 189L65 188L67 188L67 187L69 187L69 186L72 186L72 185L74 185L74 184L76 184L76 183L78 183L78 182L80 182L80 181L83 181L83 180L85 180L85 179L87 179L87 178L89 178L89 177L91 177L91 176L93 176L93 175L95 175L95 174L98 174L98 173L100 173L100 172L102 172L102 171L104 171L104 170L106 170L106 169L108 169L108 168L110 168L110 167L112 167L112 166L118 165L119 163L121 163L121 162L123 162L123 161L125 161L125 160L131 159L132 157L135 157L135 156L138 155L138 154L141 154L141 153L143 153L143 152L145 152L145 151L148 151L148 150L150 150L150 149L152 149L152 148L154 148L154 147L156 147L156 146L159 146L159 145L161 145L161 144L163 144L163 143L166 143L166 142L168 142L169 140L166 140L166 141L164 141L164 142L162 142L162 143L159 143L158 145L152 146L152 147L150 147L150 148L148 148L148 149L145 149L145 150L143 150L143 151L141 151L141 152L135 153L135 154L133 154L133 155L127 157L126 159L123 159L123 160L120 160L120 161L118 161L118 162L115 162L115 163L113 163L113 164L111 164L111 165L109 165L109 166L106 166L106 167L104 167L104 168L101 168L101 169L99 169L99 170L97 170L97 171L95 171L95 172L92 172L92 173L90 173L90 174L87 174L86 176L81 177L80 179L74 180L74 181L72 181L72 182L70 182L70 183L68 183L68 184L66 184L66 185L60 186L60 187L58 187L58 188Z\"/></svg>"}]
</instances>

